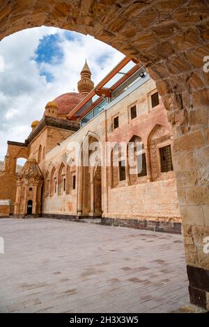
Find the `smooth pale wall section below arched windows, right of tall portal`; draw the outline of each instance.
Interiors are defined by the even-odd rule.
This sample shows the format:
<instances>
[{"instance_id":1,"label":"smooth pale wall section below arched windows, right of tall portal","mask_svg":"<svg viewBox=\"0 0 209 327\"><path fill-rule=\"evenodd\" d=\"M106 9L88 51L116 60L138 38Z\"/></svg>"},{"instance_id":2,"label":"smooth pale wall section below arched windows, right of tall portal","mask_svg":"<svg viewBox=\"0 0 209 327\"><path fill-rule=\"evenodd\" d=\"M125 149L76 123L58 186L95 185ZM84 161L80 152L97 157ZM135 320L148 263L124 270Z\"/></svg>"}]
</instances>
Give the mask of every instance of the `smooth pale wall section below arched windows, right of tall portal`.
<instances>
[{"instance_id":1,"label":"smooth pale wall section below arched windows, right of tall portal","mask_svg":"<svg viewBox=\"0 0 209 327\"><path fill-rule=\"evenodd\" d=\"M111 189L104 216L181 223L176 182L172 179Z\"/></svg>"}]
</instances>

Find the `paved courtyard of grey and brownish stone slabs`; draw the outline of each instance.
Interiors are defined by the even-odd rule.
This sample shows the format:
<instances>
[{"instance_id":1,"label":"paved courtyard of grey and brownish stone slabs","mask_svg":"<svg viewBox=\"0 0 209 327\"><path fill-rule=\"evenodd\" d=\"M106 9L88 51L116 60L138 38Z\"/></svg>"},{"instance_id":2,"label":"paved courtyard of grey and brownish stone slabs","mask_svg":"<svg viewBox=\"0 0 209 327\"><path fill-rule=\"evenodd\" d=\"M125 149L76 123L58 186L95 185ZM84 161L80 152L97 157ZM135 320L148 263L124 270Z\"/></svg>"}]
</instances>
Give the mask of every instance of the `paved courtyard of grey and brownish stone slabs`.
<instances>
[{"instance_id":1,"label":"paved courtyard of grey and brownish stone slabs","mask_svg":"<svg viewBox=\"0 0 209 327\"><path fill-rule=\"evenodd\" d=\"M0 219L0 312L171 312L189 303L181 235Z\"/></svg>"}]
</instances>

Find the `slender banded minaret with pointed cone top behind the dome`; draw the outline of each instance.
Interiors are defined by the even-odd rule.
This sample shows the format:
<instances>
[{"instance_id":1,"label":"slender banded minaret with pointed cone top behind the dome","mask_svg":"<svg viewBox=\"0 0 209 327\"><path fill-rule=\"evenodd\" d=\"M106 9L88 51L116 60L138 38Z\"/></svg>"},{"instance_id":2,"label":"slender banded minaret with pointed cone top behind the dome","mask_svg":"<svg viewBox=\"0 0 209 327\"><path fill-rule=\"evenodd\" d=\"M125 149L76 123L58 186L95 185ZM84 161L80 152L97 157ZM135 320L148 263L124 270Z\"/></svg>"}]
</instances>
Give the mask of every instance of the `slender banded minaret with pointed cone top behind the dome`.
<instances>
[{"instance_id":1,"label":"slender banded minaret with pointed cone top behind the dome","mask_svg":"<svg viewBox=\"0 0 209 327\"><path fill-rule=\"evenodd\" d=\"M94 83L91 81L91 70L88 67L87 62L85 62L85 65L81 72L81 79L77 83L77 89L79 90L79 93L84 95L88 95L91 90L94 88Z\"/></svg>"}]
</instances>

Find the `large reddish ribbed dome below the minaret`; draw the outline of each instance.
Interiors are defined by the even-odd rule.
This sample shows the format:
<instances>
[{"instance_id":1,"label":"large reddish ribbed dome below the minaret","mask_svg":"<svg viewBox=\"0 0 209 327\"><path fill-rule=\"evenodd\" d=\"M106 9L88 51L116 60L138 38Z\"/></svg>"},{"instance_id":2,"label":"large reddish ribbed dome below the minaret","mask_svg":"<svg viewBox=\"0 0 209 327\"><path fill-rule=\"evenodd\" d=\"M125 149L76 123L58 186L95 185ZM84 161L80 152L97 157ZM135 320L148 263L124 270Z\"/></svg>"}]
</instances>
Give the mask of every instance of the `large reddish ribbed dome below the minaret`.
<instances>
[{"instance_id":1,"label":"large reddish ribbed dome below the minaret","mask_svg":"<svg viewBox=\"0 0 209 327\"><path fill-rule=\"evenodd\" d=\"M82 99L84 99L83 95L71 92L56 97L53 102L56 103L56 106L59 109L57 114L61 115L70 113L70 111L74 109L75 106L77 106L77 104L82 101Z\"/></svg>"}]
</instances>

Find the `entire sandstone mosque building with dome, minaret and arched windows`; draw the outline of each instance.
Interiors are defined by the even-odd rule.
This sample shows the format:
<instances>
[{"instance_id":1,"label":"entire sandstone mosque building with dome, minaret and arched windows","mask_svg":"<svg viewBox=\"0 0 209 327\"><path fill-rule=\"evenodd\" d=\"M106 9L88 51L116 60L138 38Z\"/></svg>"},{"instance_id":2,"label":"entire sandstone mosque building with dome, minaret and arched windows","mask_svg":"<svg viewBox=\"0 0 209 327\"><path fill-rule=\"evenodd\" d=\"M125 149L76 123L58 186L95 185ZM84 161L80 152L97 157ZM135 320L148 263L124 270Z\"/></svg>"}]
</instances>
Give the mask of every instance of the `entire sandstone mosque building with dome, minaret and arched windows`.
<instances>
[{"instance_id":1,"label":"entire sandstone mosque building with dome, minaret and arched windows","mask_svg":"<svg viewBox=\"0 0 209 327\"><path fill-rule=\"evenodd\" d=\"M173 136L153 79L125 57L95 86L86 62L77 89L46 104L24 143L8 141L0 216L180 233Z\"/></svg>"}]
</instances>

